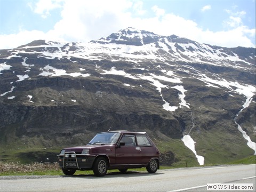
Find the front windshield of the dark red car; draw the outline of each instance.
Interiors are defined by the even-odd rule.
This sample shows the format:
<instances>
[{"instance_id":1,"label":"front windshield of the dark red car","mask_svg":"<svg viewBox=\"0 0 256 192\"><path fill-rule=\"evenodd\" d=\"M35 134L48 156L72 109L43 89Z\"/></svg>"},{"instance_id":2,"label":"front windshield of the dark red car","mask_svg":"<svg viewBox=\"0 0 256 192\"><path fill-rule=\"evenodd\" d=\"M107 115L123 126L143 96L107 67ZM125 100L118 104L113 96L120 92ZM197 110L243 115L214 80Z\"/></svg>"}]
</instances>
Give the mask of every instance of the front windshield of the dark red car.
<instances>
[{"instance_id":1,"label":"front windshield of the dark red car","mask_svg":"<svg viewBox=\"0 0 256 192\"><path fill-rule=\"evenodd\" d=\"M99 133L87 145L115 144L119 136L120 133Z\"/></svg>"}]
</instances>

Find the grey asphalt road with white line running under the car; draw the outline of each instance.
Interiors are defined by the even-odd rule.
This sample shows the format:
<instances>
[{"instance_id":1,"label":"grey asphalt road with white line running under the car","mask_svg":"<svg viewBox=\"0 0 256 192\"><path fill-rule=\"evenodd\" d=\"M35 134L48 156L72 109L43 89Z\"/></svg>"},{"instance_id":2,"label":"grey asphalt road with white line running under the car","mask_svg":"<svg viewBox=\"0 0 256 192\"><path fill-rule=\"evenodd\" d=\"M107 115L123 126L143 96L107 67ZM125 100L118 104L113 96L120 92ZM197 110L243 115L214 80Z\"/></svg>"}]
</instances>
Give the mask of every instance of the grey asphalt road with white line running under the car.
<instances>
[{"instance_id":1,"label":"grey asphalt road with white line running under the car","mask_svg":"<svg viewBox=\"0 0 256 192\"><path fill-rule=\"evenodd\" d=\"M255 191L255 174L253 164L158 170L155 174L128 170L101 178L86 172L73 177L3 176L0 191L206 191L207 183L253 183L251 191Z\"/></svg>"}]
</instances>

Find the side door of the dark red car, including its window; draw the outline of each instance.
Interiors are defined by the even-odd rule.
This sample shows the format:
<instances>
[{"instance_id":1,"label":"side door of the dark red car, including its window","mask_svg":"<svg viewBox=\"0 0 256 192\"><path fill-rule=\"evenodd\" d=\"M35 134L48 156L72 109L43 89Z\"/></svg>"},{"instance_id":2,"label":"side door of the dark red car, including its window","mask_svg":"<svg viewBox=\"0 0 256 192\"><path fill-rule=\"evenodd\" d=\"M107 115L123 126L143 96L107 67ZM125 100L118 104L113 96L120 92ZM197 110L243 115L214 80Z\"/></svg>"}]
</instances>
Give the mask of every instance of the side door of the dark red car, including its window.
<instances>
[{"instance_id":1,"label":"side door of the dark red car, including its window","mask_svg":"<svg viewBox=\"0 0 256 192\"><path fill-rule=\"evenodd\" d=\"M119 142L124 142L116 148L116 164L140 164L141 153L136 145L134 134L123 134Z\"/></svg>"}]
</instances>

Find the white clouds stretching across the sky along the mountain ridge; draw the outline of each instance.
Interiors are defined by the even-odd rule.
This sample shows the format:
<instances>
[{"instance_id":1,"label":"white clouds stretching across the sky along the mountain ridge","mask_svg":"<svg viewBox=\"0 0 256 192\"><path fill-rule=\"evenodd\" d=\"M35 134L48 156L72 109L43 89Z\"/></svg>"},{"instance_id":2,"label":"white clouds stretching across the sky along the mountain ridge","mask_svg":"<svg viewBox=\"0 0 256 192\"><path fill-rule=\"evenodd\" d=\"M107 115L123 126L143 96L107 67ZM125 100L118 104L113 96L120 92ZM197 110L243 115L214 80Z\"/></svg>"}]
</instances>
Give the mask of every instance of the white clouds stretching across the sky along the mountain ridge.
<instances>
[{"instance_id":1,"label":"white clouds stretching across the sky along the mountain ridge","mask_svg":"<svg viewBox=\"0 0 256 192\"><path fill-rule=\"evenodd\" d=\"M46 4L42 4L45 2ZM32 6L33 7L33 6ZM152 31L159 35L177 35L191 40L226 47L254 47L249 36L255 36L255 29L243 26L245 12L230 13L228 20L223 22L229 26L226 30L210 31L200 28L195 21L187 20L158 6L151 10L143 10L142 1L109 0L40 0L34 5L34 12L42 17L50 17L51 11L60 10L61 20L54 28L42 31L21 30L18 34L0 35L0 49L17 47L36 39L47 39L65 42L89 42L106 37L120 29L134 27ZM54 10L55 9L55 10ZM206 5L202 10L211 9ZM149 11L154 15L145 16ZM232 14L231 14L232 13Z\"/></svg>"}]
</instances>

